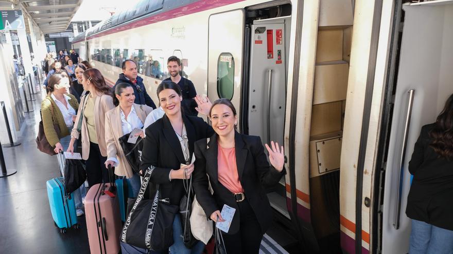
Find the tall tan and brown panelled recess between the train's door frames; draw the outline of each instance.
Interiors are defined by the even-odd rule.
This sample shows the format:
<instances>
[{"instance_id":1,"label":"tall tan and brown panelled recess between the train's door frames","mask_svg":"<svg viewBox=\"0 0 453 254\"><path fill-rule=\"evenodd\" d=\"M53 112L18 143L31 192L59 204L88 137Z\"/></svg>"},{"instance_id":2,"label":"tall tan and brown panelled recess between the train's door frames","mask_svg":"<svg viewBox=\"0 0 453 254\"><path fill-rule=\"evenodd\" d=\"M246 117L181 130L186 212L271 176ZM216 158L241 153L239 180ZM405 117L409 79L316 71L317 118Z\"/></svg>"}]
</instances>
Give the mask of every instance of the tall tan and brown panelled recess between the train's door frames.
<instances>
[{"instance_id":1,"label":"tall tan and brown panelled recess between the train's door frames","mask_svg":"<svg viewBox=\"0 0 453 254\"><path fill-rule=\"evenodd\" d=\"M321 253L340 252L340 154L353 31L351 2L320 2L309 142L311 224ZM338 10L338 8L336 8Z\"/></svg>"}]
</instances>

